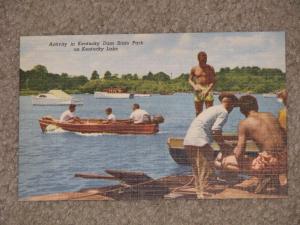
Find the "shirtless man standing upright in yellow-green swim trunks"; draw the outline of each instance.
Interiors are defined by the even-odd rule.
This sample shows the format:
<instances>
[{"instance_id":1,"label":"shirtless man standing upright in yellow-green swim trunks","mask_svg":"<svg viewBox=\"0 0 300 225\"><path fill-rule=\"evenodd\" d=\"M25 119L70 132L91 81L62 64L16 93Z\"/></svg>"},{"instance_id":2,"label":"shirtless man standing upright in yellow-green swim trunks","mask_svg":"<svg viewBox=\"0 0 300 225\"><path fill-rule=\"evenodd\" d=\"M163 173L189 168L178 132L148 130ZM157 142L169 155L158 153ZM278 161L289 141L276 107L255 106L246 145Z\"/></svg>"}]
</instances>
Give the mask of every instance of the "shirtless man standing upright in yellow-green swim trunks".
<instances>
[{"instance_id":1,"label":"shirtless man standing upright in yellow-green swim trunks","mask_svg":"<svg viewBox=\"0 0 300 225\"><path fill-rule=\"evenodd\" d=\"M198 53L199 65L194 66L189 76L189 84L193 87L196 116L203 111L203 104L206 108L211 107L214 102L212 89L216 83L214 68L207 62L205 52Z\"/></svg>"}]
</instances>

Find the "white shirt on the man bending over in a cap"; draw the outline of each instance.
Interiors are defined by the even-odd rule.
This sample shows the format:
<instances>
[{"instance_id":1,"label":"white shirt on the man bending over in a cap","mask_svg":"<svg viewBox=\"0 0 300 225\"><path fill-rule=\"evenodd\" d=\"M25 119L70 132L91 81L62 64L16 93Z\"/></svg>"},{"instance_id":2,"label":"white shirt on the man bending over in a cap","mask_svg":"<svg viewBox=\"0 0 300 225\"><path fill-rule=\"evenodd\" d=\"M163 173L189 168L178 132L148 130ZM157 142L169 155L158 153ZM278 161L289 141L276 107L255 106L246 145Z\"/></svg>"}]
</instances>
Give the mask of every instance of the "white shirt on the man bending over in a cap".
<instances>
[{"instance_id":1,"label":"white shirt on the man bending over in a cap","mask_svg":"<svg viewBox=\"0 0 300 225\"><path fill-rule=\"evenodd\" d=\"M228 119L228 112L223 105L209 107L200 113L191 123L184 145L203 147L213 141L212 130L222 130Z\"/></svg>"}]
</instances>

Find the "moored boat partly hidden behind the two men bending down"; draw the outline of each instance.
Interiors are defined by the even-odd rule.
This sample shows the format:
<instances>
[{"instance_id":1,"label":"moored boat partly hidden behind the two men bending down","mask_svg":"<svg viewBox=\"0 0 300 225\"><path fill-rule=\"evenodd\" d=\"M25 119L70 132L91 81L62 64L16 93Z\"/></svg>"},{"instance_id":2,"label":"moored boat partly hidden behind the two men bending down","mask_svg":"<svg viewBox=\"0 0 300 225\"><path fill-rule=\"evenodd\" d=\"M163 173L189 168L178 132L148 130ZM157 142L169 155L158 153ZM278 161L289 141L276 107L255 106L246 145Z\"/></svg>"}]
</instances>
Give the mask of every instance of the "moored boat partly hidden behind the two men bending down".
<instances>
[{"instance_id":1,"label":"moored boat partly hidden behind the two men bending down","mask_svg":"<svg viewBox=\"0 0 300 225\"><path fill-rule=\"evenodd\" d=\"M234 135L232 133L228 133L228 134L223 134L223 136L224 136L224 140L226 140L227 142L230 142L232 144L237 143L236 135ZM190 162L188 161L186 152L184 150L184 147L183 147L183 138L170 137L170 138L168 138L167 144L169 147L169 153L176 163L185 164L185 165L190 164ZM217 156L220 151L219 145L216 142L213 142L211 144L211 147L214 150L215 156ZM257 155L258 151L259 150L258 150L256 144L253 141L248 140L247 144L246 144L246 155L255 157Z\"/></svg>"}]
</instances>

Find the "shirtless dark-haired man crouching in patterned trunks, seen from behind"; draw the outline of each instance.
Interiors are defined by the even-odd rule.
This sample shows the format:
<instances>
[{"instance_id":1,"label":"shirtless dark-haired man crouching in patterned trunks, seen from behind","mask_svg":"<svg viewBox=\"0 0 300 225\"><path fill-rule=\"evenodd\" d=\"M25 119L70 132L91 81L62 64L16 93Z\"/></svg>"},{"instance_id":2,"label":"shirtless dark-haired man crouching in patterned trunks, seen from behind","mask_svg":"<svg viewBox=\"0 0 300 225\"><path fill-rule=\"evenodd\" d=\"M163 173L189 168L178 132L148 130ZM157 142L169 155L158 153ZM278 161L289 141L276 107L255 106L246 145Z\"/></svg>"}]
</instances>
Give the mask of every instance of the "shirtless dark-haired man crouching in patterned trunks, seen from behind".
<instances>
[{"instance_id":1,"label":"shirtless dark-haired man crouching in patterned trunks, seen from behind","mask_svg":"<svg viewBox=\"0 0 300 225\"><path fill-rule=\"evenodd\" d=\"M224 171L257 175L256 193L262 192L268 184L279 187L279 174L286 173L287 169L287 146L280 124L271 113L258 112L254 96L240 97L239 106L246 119L239 123L237 146L228 156L218 156L215 165ZM245 156L246 138L259 146L260 153L255 159Z\"/></svg>"}]
</instances>

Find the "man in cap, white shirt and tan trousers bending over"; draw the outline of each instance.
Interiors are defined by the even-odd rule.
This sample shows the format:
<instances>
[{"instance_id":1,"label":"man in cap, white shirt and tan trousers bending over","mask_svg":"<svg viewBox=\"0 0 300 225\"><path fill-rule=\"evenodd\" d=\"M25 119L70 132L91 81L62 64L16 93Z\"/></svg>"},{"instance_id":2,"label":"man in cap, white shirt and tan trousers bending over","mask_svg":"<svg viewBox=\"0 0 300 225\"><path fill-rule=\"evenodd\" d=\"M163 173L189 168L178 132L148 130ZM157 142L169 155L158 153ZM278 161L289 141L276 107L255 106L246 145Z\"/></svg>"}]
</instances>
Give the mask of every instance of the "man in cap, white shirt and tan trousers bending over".
<instances>
[{"instance_id":1,"label":"man in cap, white shirt and tan trousers bending over","mask_svg":"<svg viewBox=\"0 0 300 225\"><path fill-rule=\"evenodd\" d=\"M197 198L204 197L204 187L214 167L214 150L210 144L214 139L222 149L225 148L222 127L238 102L238 98L231 93L221 93L219 100L220 105L204 110L193 120L183 141L192 165Z\"/></svg>"}]
</instances>

